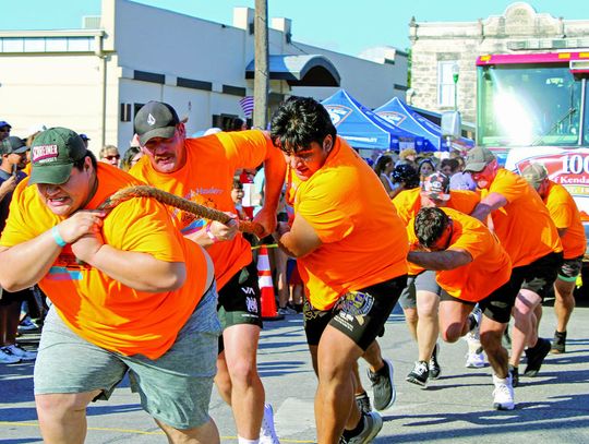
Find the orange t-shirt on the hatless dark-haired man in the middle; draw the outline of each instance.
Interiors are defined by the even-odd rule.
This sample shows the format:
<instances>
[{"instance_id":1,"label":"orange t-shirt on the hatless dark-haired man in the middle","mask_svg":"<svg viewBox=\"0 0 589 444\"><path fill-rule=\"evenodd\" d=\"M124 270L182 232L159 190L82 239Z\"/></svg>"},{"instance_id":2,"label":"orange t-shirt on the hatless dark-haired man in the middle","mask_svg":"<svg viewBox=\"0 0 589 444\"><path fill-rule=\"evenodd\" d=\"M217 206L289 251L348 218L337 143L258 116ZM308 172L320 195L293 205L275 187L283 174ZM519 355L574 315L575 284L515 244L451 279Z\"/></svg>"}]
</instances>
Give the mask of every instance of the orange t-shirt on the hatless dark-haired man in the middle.
<instances>
[{"instance_id":1,"label":"orange t-shirt on the hatless dark-haired man in the middle","mask_svg":"<svg viewBox=\"0 0 589 444\"><path fill-rule=\"evenodd\" d=\"M407 273L407 232L370 166L340 137L311 178L293 181L294 217L323 244L297 260L308 298L328 310L347 291Z\"/></svg>"}]
</instances>

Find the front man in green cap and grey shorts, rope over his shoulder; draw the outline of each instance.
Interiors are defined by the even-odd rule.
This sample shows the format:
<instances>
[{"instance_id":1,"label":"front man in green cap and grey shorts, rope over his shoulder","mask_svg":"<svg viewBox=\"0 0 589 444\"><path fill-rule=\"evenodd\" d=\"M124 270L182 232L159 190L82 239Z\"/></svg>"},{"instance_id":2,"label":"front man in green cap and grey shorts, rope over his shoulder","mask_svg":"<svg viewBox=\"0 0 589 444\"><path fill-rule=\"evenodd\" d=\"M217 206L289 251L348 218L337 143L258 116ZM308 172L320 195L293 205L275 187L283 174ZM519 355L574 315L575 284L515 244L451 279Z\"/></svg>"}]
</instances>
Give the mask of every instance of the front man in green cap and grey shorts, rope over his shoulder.
<instances>
[{"instance_id":1,"label":"front man in green cap and grey shorts, rope over his shoulder","mask_svg":"<svg viewBox=\"0 0 589 444\"><path fill-rule=\"evenodd\" d=\"M53 303L35 365L45 441L84 441L86 406L108 398L129 372L170 441L218 443L208 416L220 331L211 321L211 259L156 201L96 209L140 182L98 165L75 132L44 131L32 161L0 238L0 261L11 264L0 284L19 290L38 281Z\"/></svg>"}]
</instances>

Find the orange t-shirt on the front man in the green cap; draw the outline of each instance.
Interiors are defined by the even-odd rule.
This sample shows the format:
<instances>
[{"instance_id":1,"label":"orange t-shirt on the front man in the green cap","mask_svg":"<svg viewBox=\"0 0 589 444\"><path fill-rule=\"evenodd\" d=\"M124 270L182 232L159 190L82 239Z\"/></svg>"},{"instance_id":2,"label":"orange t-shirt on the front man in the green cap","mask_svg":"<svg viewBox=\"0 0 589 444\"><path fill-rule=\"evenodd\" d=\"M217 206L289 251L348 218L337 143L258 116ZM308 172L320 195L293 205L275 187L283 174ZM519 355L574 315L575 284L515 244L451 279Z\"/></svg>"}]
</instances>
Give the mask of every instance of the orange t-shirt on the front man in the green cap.
<instances>
[{"instance_id":1,"label":"orange t-shirt on the front man in the green cap","mask_svg":"<svg viewBox=\"0 0 589 444\"><path fill-rule=\"evenodd\" d=\"M86 209L137 180L106 164L98 164L98 190ZM0 245L26 242L63 220L43 203L28 179L15 190ZM156 359L175 343L206 290L206 253L173 227L166 207L152 199L131 199L105 217L105 243L147 253L166 262L183 262L187 281L175 291L146 292L124 286L105 273L75 261L71 247L62 249L39 281L63 322L92 344L122 355Z\"/></svg>"}]
</instances>

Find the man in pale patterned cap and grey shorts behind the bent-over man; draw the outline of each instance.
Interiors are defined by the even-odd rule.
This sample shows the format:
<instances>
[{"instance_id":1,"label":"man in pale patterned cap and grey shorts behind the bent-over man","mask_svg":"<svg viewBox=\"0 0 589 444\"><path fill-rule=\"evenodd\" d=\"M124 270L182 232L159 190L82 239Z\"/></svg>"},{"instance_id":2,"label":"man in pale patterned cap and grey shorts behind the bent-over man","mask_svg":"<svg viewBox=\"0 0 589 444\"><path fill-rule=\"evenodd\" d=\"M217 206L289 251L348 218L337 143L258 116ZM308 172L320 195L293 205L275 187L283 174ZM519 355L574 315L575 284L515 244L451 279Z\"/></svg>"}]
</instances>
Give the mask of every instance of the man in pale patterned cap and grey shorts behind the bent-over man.
<instances>
[{"instance_id":1,"label":"man in pale patterned cap and grey shorts behind the bent-over man","mask_svg":"<svg viewBox=\"0 0 589 444\"><path fill-rule=\"evenodd\" d=\"M434 172L425 178L421 188L401 191L393 199L397 214L411 230L410 221L422 207L448 207L469 214L480 202L479 194L472 191L449 189L449 178L442 172ZM425 271L409 262L407 288L399 298L405 320L411 336L418 343L418 360L406 381L425 386L428 380L435 380L442 371L437 361L440 347L437 336L440 325L437 309L442 288L435 281L435 273Z\"/></svg>"}]
</instances>

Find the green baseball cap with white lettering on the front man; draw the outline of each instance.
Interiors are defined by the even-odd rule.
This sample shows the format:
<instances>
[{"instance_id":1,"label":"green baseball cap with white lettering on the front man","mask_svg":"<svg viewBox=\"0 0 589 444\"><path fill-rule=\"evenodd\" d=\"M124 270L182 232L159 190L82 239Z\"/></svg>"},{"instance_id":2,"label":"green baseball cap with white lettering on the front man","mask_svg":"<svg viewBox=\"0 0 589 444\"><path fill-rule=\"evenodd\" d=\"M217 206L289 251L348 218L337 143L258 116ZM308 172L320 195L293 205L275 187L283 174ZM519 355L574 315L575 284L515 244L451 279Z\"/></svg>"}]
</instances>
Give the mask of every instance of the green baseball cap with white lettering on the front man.
<instances>
[{"instance_id":1,"label":"green baseball cap with white lettering on the front man","mask_svg":"<svg viewBox=\"0 0 589 444\"><path fill-rule=\"evenodd\" d=\"M65 183L73 164L86 155L82 137L67 128L50 128L33 141L31 161L33 168L28 183Z\"/></svg>"}]
</instances>

